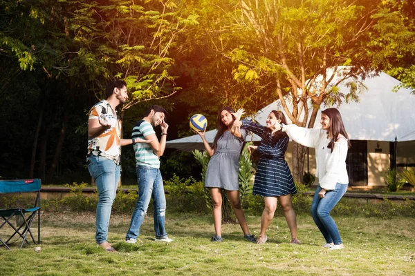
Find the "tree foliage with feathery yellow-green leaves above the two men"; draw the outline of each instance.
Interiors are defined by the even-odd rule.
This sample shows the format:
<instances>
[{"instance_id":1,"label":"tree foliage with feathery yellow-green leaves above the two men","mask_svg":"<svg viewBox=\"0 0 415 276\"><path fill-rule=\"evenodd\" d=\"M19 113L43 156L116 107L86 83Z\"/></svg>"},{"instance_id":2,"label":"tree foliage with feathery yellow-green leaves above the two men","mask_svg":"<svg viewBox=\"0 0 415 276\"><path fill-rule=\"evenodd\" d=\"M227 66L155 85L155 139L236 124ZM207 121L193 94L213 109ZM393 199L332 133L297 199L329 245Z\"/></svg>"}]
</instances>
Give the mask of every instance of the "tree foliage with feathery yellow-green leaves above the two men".
<instances>
[{"instance_id":1,"label":"tree foliage with feathery yellow-green leaves above the two men","mask_svg":"<svg viewBox=\"0 0 415 276\"><path fill-rule=\"evenodd\" d=\"M70 28L81 45L77 54L90 57L104 79L127 82L132 97L122 110L179 89L169 72L174 64L169 51L187 26L197 22L191 14L182 18L177 3L85 1L75 10Z\"/></svg>"}]
</instances>

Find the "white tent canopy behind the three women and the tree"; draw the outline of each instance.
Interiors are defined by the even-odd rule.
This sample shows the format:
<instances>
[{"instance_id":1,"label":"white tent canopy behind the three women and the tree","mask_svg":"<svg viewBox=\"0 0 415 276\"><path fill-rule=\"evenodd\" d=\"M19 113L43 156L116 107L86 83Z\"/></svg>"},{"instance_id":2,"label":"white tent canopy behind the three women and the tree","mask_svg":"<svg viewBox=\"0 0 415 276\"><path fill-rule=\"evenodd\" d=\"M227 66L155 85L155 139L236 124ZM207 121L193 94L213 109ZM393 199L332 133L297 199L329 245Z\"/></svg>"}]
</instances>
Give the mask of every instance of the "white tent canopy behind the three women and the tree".
<instances>
[{"instance_id":1,"label":"white tent canopy behind the three women and the tree","mask_svg":"<svg viewBox=\"0 0 415 276\"><path fill-rule=\"evenodd\" d=\"M362 80L360 80L362 81ZM342 114L344 127L352 140L412 141L415 140L415 95L411 90L400 88L392 92L400 81L384 72L362 81L367 88L359 95L359 102L343 103L337 107ZM340 92L347 94L349 88L340 84ZM322 109L330 106L322 106ZM289 108L292 110L292 108ZM265 125L271 110L283 110L279 100L270 103L257 112L255 119ZM288 117L287 117L288 119ZM288 120L289 121L289 120ZM291 122L290 122L291 123ZM320 111L314 126L320 125ZM212 143L216 130L206 132L206 139ZM259 141L259 137L247 137L246 141ZM203 149L199 135L167 141L167 148L179 150Z\"/></svg>"}]
</instances>

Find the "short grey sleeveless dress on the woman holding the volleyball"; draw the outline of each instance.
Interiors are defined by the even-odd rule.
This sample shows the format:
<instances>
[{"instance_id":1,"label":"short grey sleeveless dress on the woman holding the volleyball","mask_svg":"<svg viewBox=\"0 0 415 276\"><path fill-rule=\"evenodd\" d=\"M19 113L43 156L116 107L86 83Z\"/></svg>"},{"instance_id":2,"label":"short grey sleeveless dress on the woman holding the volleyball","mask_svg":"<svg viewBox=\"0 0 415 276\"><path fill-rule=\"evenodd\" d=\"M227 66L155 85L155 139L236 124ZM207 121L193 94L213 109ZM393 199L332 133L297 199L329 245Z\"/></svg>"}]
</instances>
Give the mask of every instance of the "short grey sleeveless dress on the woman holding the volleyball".
<instances>
[{"instance_id":1,"label":"short grey sleeveless dress on the woman holding the volleyball","mask_svg":"<svg viewBox=\"0 0 415 276\"><path fill-rule=\"evenodd\" d=\"M241 129L241 138L225 131L219 138L214 155L206 170L205 187L239 190L239 155L247 131Z\"/></svg>"}]
</instances>

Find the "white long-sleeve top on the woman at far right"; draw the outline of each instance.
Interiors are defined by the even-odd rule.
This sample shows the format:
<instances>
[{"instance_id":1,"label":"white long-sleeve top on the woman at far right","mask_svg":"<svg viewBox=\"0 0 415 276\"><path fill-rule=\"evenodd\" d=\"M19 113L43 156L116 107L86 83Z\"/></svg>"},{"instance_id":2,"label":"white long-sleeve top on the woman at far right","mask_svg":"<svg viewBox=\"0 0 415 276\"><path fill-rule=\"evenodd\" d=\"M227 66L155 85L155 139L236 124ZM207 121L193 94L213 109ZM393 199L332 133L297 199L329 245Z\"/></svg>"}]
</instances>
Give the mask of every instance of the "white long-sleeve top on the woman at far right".
<instances>
[{"instance_id":1,"label":"white long-sleeve top on the woman at far right","mask_svg":"<svg viewBox=\"0 0 415 276\"><path fill-rule=\"evenodd\" d=\"M315 176L319 179L320 187L334 190L335 184L349 184L346 169L347 139L338 139L334 143L333 152L328 148L331 139L327 138L327 130L322 128L301 128L294 124L284 125L285 131L298 144L315 148L317 164Z\"/></svg>"}]
</instances>

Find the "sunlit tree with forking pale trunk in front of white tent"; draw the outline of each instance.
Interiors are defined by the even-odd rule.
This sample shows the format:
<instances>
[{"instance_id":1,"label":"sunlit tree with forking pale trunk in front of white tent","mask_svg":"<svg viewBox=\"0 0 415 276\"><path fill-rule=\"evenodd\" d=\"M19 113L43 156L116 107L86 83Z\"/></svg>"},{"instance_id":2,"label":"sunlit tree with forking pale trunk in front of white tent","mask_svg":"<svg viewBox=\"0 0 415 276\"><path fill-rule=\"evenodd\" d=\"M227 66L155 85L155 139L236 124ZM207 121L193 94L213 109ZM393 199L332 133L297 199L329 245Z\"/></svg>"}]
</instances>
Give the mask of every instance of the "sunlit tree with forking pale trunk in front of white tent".
<instances>
[{"instance_id":1,"label":"sunlit tree with forking pale trunk in front of white tent","mask_svg":"<svg viewBox=\"0 0 415 276\"><path fill-rule=\"evenodd\" d=\"M238 2L233 28L239 30L238 35L245 30L257 39L228 49L224 55L238 61L238 74L273 79L270 86L293 124L311 128L322 103L340 104L358 98L362 87L356 78L373 69L371 55L365 50L373 10L347 0ZM349 70L333 85L339 66L349 66ZM322 81L317 87L319 76ZM344 81L351 84L347 95L336 88ZM305 147L294 144L293 175L297 181L302 179L305 153Z\"/></svg>"}]
</instances>

